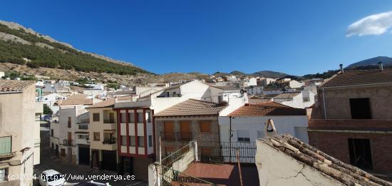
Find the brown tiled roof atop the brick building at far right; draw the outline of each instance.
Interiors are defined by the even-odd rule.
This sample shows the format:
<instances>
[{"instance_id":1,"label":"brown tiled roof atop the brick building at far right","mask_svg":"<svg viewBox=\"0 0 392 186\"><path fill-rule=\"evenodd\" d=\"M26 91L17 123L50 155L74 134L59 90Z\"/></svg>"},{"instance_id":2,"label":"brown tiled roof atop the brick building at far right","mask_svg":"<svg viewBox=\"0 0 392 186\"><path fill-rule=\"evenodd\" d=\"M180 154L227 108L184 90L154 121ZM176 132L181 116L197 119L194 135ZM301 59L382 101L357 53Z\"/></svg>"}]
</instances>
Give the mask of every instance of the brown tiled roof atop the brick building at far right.
<instances>
[{"instance_id":1,"label":"brown tiled roof atop the brick building at far right","mask_svg":"<svg viewBox=\"0 0 392 186\"><path fill-rule=\"evenodd\" d=\"M320 87L355 86L378 83L392 83L392 69L344 71L321 83Z\"/></svg>"}]
</instances>

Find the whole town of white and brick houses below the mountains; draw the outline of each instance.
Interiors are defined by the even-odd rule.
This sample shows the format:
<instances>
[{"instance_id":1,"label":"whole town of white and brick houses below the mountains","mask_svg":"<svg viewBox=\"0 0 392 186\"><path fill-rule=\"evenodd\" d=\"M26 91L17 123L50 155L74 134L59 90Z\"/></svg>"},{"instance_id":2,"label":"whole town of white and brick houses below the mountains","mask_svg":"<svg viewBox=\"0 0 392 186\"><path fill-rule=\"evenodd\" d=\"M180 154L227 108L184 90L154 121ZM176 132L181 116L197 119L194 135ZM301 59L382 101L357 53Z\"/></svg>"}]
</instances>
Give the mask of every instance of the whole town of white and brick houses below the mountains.
<instances>
[{"instance_id":1,"label":"whole town of white and brick houses below the mountains","mask_svg":"<svg viewBox=\"0 0 392 186\"><path fill-rule=\"evenodd\" d=\"M0 185L391 185L392 70L339 68L133 87L1 72Z\"/></svg>"}]
</instances>

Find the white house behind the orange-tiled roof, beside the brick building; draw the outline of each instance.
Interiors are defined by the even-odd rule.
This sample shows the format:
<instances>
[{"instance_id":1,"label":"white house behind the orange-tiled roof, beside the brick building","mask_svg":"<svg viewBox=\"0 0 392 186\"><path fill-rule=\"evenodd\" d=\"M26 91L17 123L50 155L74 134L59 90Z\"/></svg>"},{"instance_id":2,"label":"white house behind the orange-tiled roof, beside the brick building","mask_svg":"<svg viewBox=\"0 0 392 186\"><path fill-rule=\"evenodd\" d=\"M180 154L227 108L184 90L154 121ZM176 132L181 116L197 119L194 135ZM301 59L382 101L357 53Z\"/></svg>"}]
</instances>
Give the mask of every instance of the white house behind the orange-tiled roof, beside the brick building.
<instances>
[{"instance_id":1,"label":"white house behind the orange-tiled roof, beside the brick building","mask_svg":"<svg viewBox=\"0 0 392 186\"><path fill-rule=\"evenodd\" d=\"M304 90L304 91L281 93L275 96L274 98L272 98L272 101L276 103L281 103L283 105L288 105L294 108L307 108L314 104L315 96L316 93L313 93L309 90Z\"/></svg>"}]
</instances>

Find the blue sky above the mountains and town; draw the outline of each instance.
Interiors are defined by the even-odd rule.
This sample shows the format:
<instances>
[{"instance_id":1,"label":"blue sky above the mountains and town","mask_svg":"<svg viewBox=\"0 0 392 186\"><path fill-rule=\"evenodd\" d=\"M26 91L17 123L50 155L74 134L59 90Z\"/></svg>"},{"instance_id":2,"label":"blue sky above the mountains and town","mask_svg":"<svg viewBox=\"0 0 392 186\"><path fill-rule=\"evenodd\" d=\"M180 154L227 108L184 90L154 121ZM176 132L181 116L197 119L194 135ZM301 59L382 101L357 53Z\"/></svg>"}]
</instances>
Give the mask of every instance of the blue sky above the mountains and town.
<instances>
[{"instance_id":1,"label":"blue sky above the mountains and town","mask_svg":"<svg viewBox=\"0 0 392 186\"><path fill-rule=\"evenodd\" d=\"M13 0L0 19L154 73L304 75L392 56L388 11L390 0Z\"/></svg>"}]
</instances>

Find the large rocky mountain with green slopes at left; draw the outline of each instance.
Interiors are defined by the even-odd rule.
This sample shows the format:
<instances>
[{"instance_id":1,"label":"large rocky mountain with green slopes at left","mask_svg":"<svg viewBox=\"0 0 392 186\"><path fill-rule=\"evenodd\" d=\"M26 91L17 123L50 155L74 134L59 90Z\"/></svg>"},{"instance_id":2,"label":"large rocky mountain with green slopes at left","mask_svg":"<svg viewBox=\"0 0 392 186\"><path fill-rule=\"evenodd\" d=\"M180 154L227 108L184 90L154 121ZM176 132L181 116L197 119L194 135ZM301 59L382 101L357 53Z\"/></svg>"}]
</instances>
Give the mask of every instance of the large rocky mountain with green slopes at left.
<instances>
[{"instance_id":1,"label":"large rocky mountain with green slopes at left","mask_svg":"<svg viewBox=\"0 0 392 186\"><path fill-rule=\"evenodd\" d=\"M26 29L20 24L0 21L0 63L26 65L29 68L56 68L79 72L136 75L149 73L131 63L88 53L68 43Z\"/></svg>"}]
</instances>

